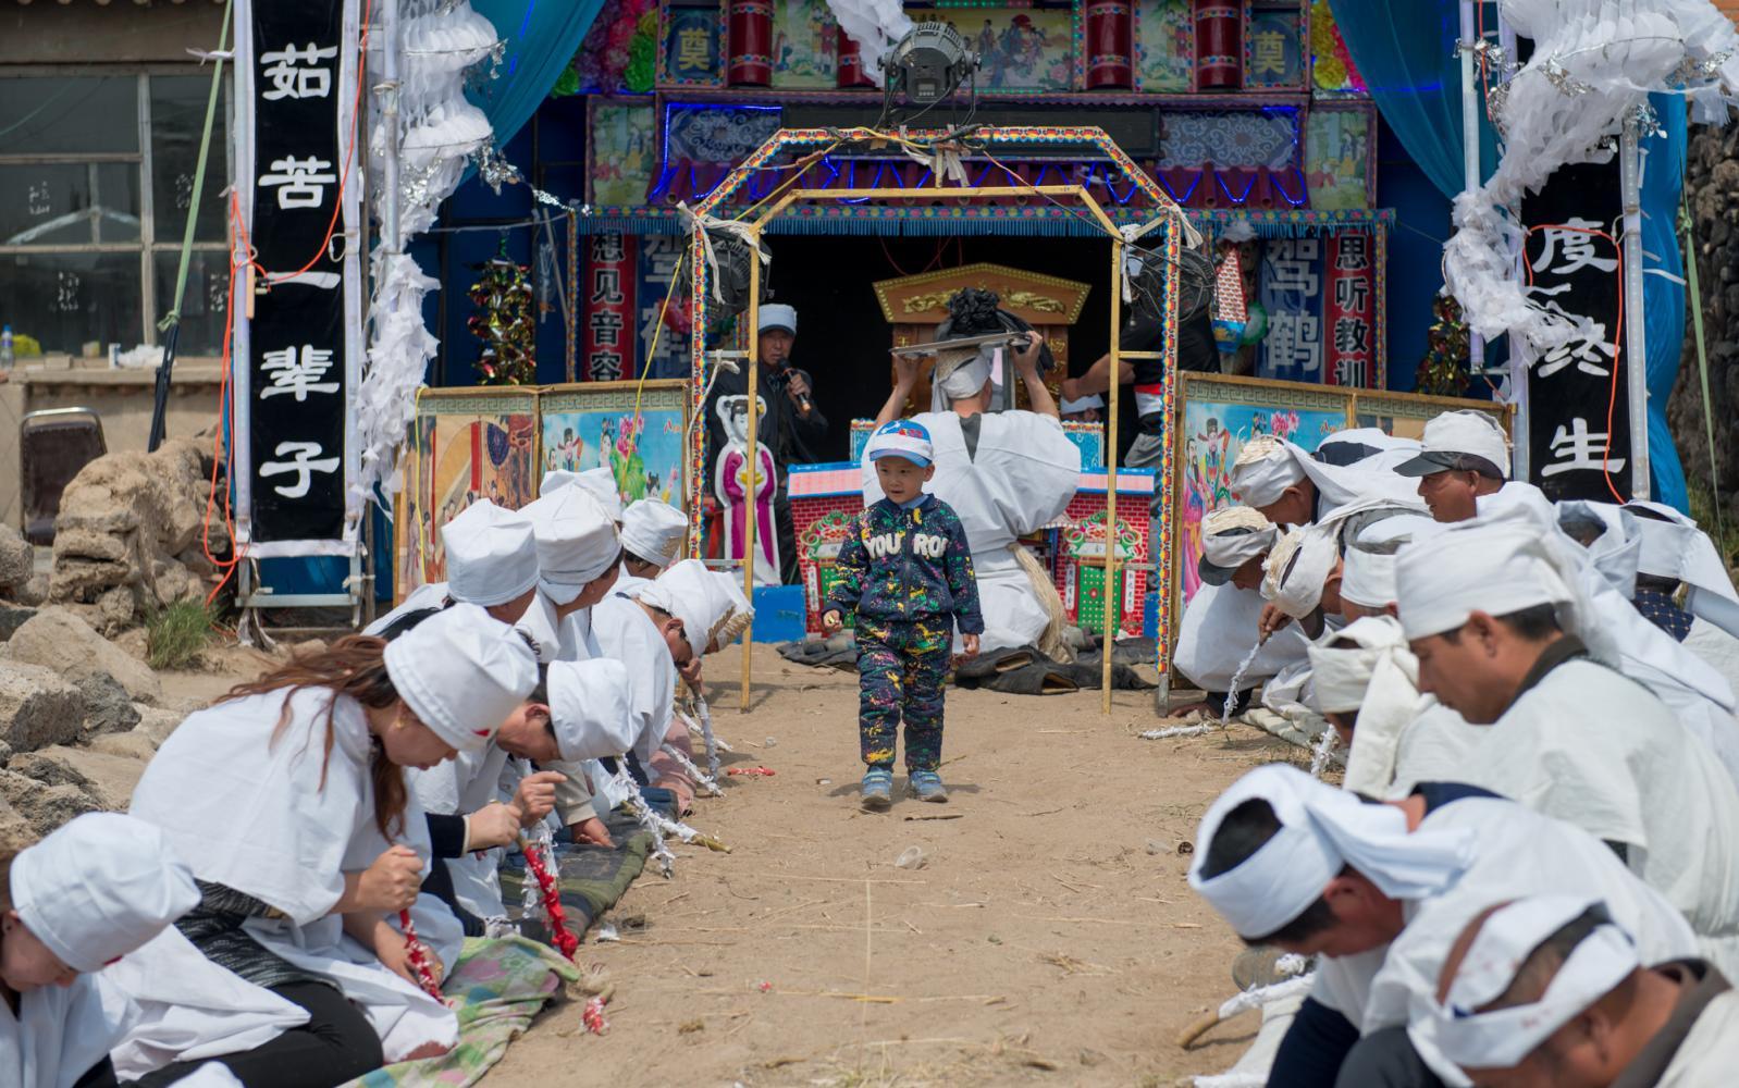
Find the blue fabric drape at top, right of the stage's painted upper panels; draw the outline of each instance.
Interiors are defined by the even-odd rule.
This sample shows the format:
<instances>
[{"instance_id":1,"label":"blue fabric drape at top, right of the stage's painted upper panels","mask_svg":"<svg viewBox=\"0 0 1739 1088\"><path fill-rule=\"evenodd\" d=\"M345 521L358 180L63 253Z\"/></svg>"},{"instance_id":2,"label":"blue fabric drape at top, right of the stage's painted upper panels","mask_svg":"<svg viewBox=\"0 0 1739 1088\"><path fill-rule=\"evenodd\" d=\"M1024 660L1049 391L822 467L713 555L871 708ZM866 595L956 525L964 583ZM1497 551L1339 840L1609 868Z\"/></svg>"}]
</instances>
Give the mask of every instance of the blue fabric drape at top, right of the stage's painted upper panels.
<instances>
[{"instance_id":1,"label":"blue fabric drape at top, right of the stage's painted upper panels","mask_svg":"<svg viewBox=\"0 0 1739 1088\"><path fill-rule=\"evenodd\" d=\"M1461 7L1452 0L1329 0L1383 120L1445 196L1462 189ZM1487 10L1487 24L1496 16ZM1497 134L1480 118L1480 163L1497 163Z\"/></svg>"}]
</instances>

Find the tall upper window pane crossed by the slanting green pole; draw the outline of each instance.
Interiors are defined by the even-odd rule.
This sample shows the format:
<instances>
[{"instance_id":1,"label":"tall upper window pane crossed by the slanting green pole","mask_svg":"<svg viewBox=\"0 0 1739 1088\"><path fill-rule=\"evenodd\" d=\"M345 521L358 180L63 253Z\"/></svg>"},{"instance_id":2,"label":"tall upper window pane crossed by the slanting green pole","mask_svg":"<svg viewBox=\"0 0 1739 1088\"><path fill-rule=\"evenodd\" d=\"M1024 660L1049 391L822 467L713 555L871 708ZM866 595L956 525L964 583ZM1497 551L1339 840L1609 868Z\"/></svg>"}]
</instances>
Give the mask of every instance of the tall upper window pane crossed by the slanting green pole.
<instances>
[{"instance_id":1,"label":"tall upper window pane crossed by the slanting green pole","mask_svg":"<svg viewBox=\"0 0 1739 1088\"><path fill-rule=\"evenodd\" d=\"M212 82L203 75L151 76L151 200L157 214L157 240L179 242L188 229L193 203L193 172L200 162L200 136L205 132L205 99ZM230 80L224 76L212 118L212 149L205 160L205 191L195 238L224 240L224 196L230 184L230 127L224 101Z\"/></svg>"}]
</instances>

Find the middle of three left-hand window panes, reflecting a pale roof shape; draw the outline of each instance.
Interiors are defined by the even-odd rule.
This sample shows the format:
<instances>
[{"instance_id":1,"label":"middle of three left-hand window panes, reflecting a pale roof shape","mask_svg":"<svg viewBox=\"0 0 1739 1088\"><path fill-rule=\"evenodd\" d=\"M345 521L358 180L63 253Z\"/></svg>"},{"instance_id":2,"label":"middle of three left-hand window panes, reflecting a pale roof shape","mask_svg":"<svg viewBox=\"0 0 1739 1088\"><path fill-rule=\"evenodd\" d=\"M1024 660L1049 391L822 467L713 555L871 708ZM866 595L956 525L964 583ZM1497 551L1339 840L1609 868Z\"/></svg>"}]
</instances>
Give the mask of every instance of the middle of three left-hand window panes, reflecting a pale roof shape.
<instances>
[{"instance_id":1,"label":"middle of three left-hand window panes, reflecting a pale roof shape","mask_svg":"<svg viewBox=\"0 0 1739 1088\"><path fill-rule=\"evenodd\" d=\"M0 165L0 245L139 240L139 167Z\"/></svg>"}]
</instances>

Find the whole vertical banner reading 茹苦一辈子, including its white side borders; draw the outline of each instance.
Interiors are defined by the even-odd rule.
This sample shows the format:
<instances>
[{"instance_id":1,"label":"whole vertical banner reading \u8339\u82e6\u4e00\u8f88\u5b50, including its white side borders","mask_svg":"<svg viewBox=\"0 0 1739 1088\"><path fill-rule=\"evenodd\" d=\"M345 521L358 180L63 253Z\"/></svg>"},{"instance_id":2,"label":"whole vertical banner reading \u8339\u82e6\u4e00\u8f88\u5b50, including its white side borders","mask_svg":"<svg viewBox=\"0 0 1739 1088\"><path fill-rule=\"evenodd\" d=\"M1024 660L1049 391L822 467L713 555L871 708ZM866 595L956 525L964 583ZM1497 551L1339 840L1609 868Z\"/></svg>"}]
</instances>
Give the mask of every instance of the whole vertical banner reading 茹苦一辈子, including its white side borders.
<instances>
[{"instance_id":1,"label":"whole vertical banner reading \u8339\u82e6\u4e00\u8f88\u5b50, including its white side borders","mask_svg":"<svg viewBox=\"0 0 1739 1088\"><path fill-rule=\"evenodd\" d=\"M237 188L259 269L235 318L238 499L252 554L350 554L356 3L243 2L237 26Z\"/></svg>"}]
</instances>

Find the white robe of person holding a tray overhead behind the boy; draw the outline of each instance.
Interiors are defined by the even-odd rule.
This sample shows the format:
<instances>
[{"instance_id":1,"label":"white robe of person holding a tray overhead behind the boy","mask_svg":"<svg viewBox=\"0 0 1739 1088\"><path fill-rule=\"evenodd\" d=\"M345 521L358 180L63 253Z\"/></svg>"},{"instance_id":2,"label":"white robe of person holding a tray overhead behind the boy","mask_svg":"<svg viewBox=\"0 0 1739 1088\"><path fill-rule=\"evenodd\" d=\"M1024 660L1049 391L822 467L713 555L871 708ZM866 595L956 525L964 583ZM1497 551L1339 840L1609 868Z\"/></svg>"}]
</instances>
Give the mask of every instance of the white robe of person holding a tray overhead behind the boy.
<instances>
[{"instance_id":1,"label":"white robe of person holding a tray overhead behind the boy","mask_svg":"<svg viewBox=\"0 0 1739 1088\"><path fill-rule=\"evenodd\" d=\"M956 414L922 412L913 421L929 428L936 447L936 476L923 490L960 514L972 547L984 612L979 648L988 653L1036 643L1050 614L1010 549L1068 509L1080 480L1080 450L1054 415L1038 412L983 415L974 454ZM864 506L880 502L882 485L868 457L863 471Z\"/></svg>"}]
</instances>

